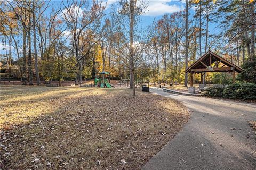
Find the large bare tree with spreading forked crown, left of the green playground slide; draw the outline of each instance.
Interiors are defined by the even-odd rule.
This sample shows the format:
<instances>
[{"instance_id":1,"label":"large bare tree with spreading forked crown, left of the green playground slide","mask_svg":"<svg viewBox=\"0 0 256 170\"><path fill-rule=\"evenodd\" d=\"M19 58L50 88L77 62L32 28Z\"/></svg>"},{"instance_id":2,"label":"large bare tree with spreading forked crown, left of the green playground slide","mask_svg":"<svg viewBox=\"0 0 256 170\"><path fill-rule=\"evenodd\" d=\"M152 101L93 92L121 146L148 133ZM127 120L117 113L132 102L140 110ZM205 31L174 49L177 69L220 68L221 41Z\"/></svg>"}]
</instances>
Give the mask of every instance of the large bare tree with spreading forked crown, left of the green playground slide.
<instances>
[{"instance_id":1,"label":"large bare tree with spreading forked crown, left of the green playground slide","mask_svg":"<svg viewBox=\"0 0 256 170\"><path fill-rule=\"evenodd\" d=\"M67 26L73 35L72 39L72 51L75 53L77 60L77 67L79 72L77 74L77 81L82 82L82 58L81 56L81 36L84 30L89 28L95 28L95 24L100 21L103 16L104 6L101 1L66 1L63 2L65 8L62 10L63 17L67 23ZM94 29L93 29L94 30ZM93 31L92 30L92 31ZM78 80L79 78L79 80Z\"/></svg>"}]
</instances>

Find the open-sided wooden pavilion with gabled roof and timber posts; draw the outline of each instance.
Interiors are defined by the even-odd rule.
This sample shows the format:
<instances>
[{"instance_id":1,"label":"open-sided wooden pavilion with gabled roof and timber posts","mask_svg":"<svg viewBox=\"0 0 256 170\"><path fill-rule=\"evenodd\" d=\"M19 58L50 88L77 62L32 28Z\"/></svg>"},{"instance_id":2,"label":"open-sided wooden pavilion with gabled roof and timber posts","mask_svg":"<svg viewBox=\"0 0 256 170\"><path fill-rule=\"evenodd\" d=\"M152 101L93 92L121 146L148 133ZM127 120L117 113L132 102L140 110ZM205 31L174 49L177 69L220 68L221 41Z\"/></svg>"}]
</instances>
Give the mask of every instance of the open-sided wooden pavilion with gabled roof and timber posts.
<instances>
[{"instance_id":1,"label":"open-sided wooden pavilion with gabled roof and timber posts","mask_svg":"<svg viewBox=\"0 0 256 170\"><path fill-rule=\"evenodd\" d=\"M241 73L243 69L234 63L211 51L201 56L195 63L190 65L185 73L190 73L190 86L193 86L193 74L201 74L201 84L203 84L203 75L207 72L229 72L233 74L233 83L235 83L236 72Z\"/></svg>"}]
</instances>

